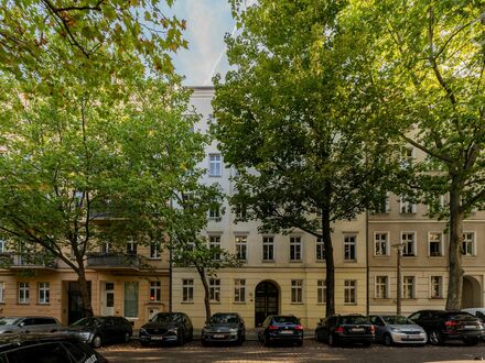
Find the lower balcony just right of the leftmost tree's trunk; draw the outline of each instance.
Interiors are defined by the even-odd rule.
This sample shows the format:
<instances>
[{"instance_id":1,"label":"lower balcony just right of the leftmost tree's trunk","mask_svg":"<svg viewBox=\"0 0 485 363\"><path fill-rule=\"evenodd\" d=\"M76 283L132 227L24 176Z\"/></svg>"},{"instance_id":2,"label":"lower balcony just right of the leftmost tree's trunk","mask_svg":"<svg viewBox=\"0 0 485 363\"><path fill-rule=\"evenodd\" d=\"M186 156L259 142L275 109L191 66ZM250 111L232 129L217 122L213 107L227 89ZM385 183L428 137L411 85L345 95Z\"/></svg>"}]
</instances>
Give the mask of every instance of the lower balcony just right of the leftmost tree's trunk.
<instances>
[{"instance_id":1,"label":"lower balcony just right of the leftmost tree's trunk","mask_svg":"<svg viewBox=\"0 0 485 363\"><path fill-rule=\"evenodd\" d=\"M142 267L142 257L138 254L119 252L89 252L87 267L94 270L134 270Z\"/></svg>"}]
</instances>

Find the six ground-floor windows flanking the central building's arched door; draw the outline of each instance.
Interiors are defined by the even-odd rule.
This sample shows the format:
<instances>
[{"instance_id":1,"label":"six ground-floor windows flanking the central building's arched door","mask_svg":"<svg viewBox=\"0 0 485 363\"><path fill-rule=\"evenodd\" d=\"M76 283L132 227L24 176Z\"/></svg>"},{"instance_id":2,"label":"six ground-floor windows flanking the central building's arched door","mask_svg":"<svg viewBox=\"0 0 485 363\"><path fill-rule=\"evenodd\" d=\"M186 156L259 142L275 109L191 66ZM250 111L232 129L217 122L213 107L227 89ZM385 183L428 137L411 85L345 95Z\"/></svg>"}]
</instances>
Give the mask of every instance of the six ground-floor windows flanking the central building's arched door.
<instances>
[{"instance_id":1,"label":"six ground-floor windows flanking the central building's arched door","mask_svg":"<svg viewBox=\"0 0 485 363\"><path fill-rule=\"evenodd\" d=\"M209 299L212 302L220 302L220 279L209 278ZM324 279L316 282L316 302L325 304L326 284ZM246 279L234 280L234 302L246 302ZM303 279L291 280L291 304L303 304ZM194 279L182 279L182 302L194 302ZM344 302L357 304L357 282L355 279L344 280Z\"/></svg>"}]
</instances>

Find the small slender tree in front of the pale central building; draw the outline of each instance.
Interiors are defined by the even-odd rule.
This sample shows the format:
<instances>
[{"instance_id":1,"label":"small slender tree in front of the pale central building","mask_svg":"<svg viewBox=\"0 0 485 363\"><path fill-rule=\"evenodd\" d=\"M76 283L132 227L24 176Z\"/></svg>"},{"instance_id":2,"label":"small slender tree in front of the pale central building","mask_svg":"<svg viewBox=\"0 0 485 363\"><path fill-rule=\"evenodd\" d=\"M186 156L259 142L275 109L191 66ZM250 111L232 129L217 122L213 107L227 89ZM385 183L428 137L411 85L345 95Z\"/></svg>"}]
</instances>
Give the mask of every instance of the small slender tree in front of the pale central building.
<instances>
[{"instance_id":1,"label":"small slender tree in front of the pale central building","mask_svg":"<svg viewBox=\"0 0 485 363\"><path fill-rule=\"evenodd\" d=\"M192 187L180 190L175 195L173 220L169 230L173 262L177 266L195 268L201 278L206 321L212 316L208 279L215 277L220 268L241 265L233 254L220 245L211 245L202 234L207 224L208 211L219 208L222 198L217 186L194 183Z\"/></svg>"}]
</instances>

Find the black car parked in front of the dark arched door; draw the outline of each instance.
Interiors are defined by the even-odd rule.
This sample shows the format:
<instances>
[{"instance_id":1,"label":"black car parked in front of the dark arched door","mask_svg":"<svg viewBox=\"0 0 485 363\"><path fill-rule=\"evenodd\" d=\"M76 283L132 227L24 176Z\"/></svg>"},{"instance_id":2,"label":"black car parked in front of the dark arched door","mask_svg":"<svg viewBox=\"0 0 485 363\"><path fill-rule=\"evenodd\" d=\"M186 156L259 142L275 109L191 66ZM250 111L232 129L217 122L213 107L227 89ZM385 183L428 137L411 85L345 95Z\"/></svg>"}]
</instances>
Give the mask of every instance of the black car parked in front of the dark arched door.
<instances>
[{"instance_id":1,"label":"black car parked in front of the dark arched door","mask_svg":"<svg viewBox=\"0 0 485 363\"><path fill-rule=\"evenodd\" d=\"M265 345L272 342L293 342L303 345L303 327L300 319L290 315L271 315L258 330L258 340Z\"/></svg>"}]
</instances>

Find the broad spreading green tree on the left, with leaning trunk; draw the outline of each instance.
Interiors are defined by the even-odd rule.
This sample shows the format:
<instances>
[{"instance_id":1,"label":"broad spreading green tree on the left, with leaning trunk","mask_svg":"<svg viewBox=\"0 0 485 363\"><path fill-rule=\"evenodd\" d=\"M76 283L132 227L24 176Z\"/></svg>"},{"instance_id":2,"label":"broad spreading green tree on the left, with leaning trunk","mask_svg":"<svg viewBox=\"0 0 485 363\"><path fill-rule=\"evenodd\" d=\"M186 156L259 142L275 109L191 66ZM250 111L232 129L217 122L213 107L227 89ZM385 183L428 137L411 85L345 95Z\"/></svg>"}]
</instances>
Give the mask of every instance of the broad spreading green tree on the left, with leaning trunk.
<instances>
[{"instance_id":1,"label":"broad spreading green tree on the left, with leaning trunk","mask_svg":"<svg viewBox=\"0 0 485 363\"><path fill-rule=\"evenodd\" d=\"M84 87L84 67L53 64L52 73L52 95L1 81L0 230L19 251L69 266L93 315L86 253L129 235L163 242L169 200L191 180L204 138L192 131L196 118L182 116L188 94L177 82L140 74L118 80L125 94L117 84Z\"/></svg>"}]
</instances>

